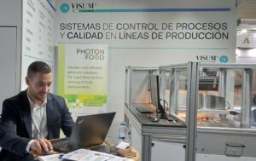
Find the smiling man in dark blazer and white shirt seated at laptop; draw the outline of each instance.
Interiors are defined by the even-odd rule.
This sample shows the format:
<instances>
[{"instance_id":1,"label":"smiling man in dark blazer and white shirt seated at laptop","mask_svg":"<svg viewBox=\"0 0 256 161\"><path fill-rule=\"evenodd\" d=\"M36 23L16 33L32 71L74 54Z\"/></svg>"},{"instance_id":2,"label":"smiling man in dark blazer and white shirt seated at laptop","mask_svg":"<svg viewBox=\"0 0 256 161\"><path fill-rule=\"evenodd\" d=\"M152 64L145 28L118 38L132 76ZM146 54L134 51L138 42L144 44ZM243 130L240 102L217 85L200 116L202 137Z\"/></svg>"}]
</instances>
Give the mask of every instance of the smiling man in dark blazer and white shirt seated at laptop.
<instances>
[{"instance_id":1,"label":"smiling man in dark blazer and white shirt seated at laptop","mask_svg":"<svg viewBox=\"0 0 256 161\"><path fill-rule=\"evenodd\" d=\"M3 101L0 119L0 161L33 160L52 151L50 139L60 137L60 129L70 136L73 118L65 100L49 93L52 84L50 67L35 61L28 67L27 89Z\"/></svg>"}]
</instances>

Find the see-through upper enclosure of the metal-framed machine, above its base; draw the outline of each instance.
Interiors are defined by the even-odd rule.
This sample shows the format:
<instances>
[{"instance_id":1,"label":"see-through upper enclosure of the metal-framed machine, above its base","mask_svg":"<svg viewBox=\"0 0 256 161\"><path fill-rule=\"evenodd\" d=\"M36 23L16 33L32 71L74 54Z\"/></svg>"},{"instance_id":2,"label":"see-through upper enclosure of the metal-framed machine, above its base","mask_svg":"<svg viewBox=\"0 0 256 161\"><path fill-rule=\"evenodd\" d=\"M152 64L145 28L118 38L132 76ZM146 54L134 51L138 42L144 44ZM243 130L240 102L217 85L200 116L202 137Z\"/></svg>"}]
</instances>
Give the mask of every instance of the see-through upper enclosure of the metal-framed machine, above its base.
<instances>
[{"instance_id":1,"label":"see-through upper enclosure of the metal-framed machine, above its base","mask_svg":"<svg viewBox=\"0 0 256 161\"><path fill-rule=\"evenodd\" d=\"M195 62L193 62L195 63ZM150 76L159 75L160 104L166 112L186 120L188 84L196 86L198 127L256 128L256 66L197 63L160 67L129 66L125 71L125 104L150 104ZM189 76L197 75L196 80ZM195 94L194 94L195 95Z\"/></svg>"}]
</instances>

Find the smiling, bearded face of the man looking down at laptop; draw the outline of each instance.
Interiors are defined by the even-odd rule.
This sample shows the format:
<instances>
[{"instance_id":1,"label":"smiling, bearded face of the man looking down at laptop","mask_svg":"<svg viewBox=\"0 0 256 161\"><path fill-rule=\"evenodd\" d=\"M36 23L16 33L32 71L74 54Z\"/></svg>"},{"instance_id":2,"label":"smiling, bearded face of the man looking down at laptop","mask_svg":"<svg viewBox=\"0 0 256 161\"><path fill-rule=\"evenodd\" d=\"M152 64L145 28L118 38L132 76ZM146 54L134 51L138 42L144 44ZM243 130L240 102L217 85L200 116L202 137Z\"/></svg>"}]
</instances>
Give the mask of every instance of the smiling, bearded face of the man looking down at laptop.
<instances>
[{"instance_id":1,"label":"smiling, bearded face of the man looking down at laptop","mask_svg":"<svg viewBox=\"0 0 256 161\"><path fill-rule=\"evenodd\" d=\"M44 74L38 72L32 78L26 77L26 84L28 95L32 97L34 103L41 103L45 100L49 93L49 89L52 83L52 73Z\"/></svg>"}]
</instances>

